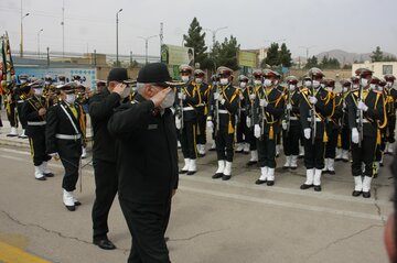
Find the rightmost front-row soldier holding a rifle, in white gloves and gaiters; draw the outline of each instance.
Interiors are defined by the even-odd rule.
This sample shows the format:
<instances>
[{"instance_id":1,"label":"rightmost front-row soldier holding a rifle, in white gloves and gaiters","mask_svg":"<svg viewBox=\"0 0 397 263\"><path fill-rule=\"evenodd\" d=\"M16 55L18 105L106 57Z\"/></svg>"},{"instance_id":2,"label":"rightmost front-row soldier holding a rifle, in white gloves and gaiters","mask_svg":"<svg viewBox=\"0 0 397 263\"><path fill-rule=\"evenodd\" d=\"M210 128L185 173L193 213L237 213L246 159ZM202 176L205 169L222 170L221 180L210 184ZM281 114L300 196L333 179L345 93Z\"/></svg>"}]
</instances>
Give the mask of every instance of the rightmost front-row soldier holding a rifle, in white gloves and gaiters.
<instances>
[{"instance_id":1,"label":"rightmost front-row soldier holding a rifle, in white gloves and gaiters","mask_svg":"<svg viewBox=\"0 0 397 263\"><path fill-rule=\"evenodd\" d=\"M358 68L355 73L361 80L360 88L352 89L346 98L348 127L352 131L352 174L355 185L352 195L357 197L363 194L364 198L369 198L375 149L377 141L380 142L378 121L385 114L385 107L382 94L376 90L376 84L371 84L373 72Z\"/></svg>"}]
</instances>

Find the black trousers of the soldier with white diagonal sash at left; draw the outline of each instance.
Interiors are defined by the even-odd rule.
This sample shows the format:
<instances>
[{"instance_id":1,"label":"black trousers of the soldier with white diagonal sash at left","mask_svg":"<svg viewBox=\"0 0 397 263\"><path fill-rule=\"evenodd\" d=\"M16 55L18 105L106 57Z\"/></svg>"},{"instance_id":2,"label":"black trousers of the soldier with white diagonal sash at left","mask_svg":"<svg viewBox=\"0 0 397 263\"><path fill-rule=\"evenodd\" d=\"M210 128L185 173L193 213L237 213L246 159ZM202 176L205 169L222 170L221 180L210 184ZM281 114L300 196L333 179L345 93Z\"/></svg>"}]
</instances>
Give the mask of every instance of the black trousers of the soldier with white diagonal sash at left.
<instances>
[{"instance_id":1,"label":"black trousers of the soldier with white diagonal sash at left","mask_svg":"<svg viewBox=\"0 0 397 263\"><path fill-rule=\"evenodd\" d=\"M65 175L62 180L62 188L67 191L76 189L78 180L78 169L82 155L81 140L60 140L57 139L57 149L62 165L65 168Z\"/></svg>"}]
</instances>

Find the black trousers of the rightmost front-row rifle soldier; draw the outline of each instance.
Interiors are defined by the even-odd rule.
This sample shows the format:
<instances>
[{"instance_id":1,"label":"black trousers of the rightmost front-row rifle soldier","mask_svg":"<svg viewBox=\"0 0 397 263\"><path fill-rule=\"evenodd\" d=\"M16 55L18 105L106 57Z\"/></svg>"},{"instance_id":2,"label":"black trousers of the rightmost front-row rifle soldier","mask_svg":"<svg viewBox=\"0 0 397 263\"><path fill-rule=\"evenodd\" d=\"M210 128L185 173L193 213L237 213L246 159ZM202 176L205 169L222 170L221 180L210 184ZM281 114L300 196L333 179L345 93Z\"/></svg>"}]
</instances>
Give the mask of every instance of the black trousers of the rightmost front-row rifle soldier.
<instances>
[{"instance_id":1,"label":"black trousers of the rightmost front-row rifle soldier","mask_svg":"<svg viewBox=\"0 0 397 263\"><path fill-rule=\"evenodd\" d=\"M358 143L352 143L352 175L353 176L369 176L374 174L374 155L376 150L376 136L366 136L362 141L362 146ZM362 172L362 163L365 164L364 173Z\"/></svg>"}]
</instances>

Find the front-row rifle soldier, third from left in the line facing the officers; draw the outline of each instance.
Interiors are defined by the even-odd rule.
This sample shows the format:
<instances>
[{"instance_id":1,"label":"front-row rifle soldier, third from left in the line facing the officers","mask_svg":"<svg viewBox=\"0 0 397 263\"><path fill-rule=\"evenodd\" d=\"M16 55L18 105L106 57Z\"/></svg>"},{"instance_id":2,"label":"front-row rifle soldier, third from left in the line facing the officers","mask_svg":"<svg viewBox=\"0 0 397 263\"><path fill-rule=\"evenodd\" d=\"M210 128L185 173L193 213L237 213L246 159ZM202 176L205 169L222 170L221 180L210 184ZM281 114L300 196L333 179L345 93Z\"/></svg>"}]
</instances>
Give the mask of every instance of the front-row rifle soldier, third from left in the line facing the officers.
<instances>
[{"instance_id":1,"label":"front-row rifle soldier, third from left in the line facing the officers","mask_svg":"<svg viewBox=\"0 0 397 263\"><path fill-rule=\"evenodd\" d=\"M257 185L275 185L276 143L281 131L280 120L285 107L285 95L276 85L277 74L264 70L264 87L255 99L254 135L257 139L260 177Z\"/></svg>"}]
</instances>

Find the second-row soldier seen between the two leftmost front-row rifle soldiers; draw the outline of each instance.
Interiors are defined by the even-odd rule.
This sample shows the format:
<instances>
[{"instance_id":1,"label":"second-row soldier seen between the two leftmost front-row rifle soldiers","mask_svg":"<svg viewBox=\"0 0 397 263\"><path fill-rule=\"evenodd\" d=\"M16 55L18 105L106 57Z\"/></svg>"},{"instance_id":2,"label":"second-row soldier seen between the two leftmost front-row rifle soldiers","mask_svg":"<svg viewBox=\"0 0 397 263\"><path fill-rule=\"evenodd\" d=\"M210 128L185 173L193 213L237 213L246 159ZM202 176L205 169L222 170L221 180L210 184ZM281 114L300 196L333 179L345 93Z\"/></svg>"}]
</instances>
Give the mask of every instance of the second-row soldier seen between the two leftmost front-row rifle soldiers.
<instances>
[{"instance_id":1,"label":"second-row soldier seen between the two leftmost front-row rifle soldiers","mask_svg":"<svg viewBox=\"0 0 397 263\"><path fill-rule=\"evenodd\" d=\"M195 69L194 79L192 85L198 91L198 103L195 107L197 113L197 131L196 131L196 143L198 156L205 155L206 144L206 117L208 113L207 103L210 97L210 86L204 83L205 73L201 69Z\"/></svg>"}]
</instances>

